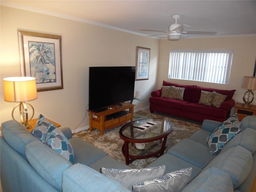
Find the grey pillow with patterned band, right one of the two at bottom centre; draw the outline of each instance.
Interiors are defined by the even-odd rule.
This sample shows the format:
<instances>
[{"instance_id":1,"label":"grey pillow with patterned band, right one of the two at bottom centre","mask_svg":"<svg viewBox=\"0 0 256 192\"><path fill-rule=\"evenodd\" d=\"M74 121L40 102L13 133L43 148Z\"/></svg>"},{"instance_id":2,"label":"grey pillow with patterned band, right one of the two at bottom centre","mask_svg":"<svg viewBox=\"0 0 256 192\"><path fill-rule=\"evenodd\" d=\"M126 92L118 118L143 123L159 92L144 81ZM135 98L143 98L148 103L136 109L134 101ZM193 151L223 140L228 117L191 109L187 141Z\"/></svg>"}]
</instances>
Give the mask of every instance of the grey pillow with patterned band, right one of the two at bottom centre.
<instances>
[{"instance_id":1,"label":"grey pillow with patterned band, right one of the two at bottom centre","mask_svg":"<svg viewBox=\"0 0 256 192\"><path fill-rule=\"evenodd\" d=\"M167 173L132 186L132 192L180 192L188 184L191 172L190 167Z\"/></svg>"}]
</instances>

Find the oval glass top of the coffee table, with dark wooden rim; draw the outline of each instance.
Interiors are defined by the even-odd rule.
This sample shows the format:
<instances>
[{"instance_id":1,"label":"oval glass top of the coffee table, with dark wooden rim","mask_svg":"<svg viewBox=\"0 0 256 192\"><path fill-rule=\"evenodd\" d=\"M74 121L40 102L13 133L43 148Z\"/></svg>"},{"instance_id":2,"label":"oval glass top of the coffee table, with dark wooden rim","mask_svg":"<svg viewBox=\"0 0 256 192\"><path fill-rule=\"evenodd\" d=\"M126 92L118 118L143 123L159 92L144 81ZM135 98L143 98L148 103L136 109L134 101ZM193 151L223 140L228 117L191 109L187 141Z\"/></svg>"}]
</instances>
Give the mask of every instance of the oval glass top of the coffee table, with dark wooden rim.
<instances>
[{"instance_id":1,"label":"oval glass top of the coffee table, with dark wooden rim","mask_svg":"<svg viewBox=\"0 0 256 192\"><path fill-rule=\"evenodd\" d=\"M127 123L120 129L120 136L132 142L157 140L172 131L172 123L162 119L140 119Z\"/></svg>"}]
</instances>

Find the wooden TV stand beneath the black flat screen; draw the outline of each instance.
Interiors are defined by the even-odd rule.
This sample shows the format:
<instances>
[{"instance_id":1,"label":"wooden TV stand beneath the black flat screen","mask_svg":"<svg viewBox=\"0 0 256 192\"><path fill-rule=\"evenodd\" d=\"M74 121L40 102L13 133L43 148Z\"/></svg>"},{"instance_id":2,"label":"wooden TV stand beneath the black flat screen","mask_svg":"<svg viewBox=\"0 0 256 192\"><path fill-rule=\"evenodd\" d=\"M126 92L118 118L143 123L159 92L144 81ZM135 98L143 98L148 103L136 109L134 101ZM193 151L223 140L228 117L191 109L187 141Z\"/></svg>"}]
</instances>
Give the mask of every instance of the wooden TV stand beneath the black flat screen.
<instances>
[{"instance_id":1,"label":"wooden TV stand beneath the black flat screen","mask_svg":"<svg viewBox=\"0 0 256 192\"><path fill-rule=\"evenodd\" d=\"M134 104L124 102L122 103L122 107L119 109L107 109L102 112L94 112L92 110L88 110L90 116L90 131L92 131L92 128L96 128L100 130L100 135L103 135L104 130L106 129L112 129L116 126L120 126L129 120L133 121L134 106ZM106 119L107 115L120 111L126 111L127 114L114 119Z\"/></svg>"}]
</instances>

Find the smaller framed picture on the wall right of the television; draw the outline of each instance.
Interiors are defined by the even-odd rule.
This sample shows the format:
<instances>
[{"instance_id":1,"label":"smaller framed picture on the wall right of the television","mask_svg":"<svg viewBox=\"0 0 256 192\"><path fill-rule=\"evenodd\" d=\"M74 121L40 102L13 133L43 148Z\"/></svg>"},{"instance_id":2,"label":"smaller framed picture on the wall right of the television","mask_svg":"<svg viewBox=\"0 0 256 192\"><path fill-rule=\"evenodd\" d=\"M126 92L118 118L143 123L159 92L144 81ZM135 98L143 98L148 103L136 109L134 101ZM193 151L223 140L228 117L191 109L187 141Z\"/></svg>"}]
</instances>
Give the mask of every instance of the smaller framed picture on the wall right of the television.
<instances>
[{"instance_id":1,"label":"smaller framed picture on the wall right of the television","mask_svg":"<svg viewBox=\"0 0 256 192\"><path fill-rule=\"evenodd\" d=\"M136 46L136 78L148 80L150 62L150 48Z\"/></svg>"}]
</instances>

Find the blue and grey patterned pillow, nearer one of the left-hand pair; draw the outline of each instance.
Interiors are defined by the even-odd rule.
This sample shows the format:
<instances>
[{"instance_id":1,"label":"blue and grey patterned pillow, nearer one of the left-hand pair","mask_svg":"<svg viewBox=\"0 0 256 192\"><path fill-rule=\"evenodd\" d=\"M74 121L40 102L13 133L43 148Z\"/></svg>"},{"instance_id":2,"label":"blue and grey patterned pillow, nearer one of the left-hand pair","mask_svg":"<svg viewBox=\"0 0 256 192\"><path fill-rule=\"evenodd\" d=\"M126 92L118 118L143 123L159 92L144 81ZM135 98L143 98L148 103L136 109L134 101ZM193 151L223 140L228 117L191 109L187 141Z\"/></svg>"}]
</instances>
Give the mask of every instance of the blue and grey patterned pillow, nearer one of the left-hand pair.
<instances>
[{"instance_id":1,"label":"blue and grey patterned pillow, nearer one of the left-hand pair","mask_svg":"<svg viewBox=\"0 0 256 192\"><path fill-rule=\"evenodd\" d=\"M45 144L73 163L74 150L70 142L52 122L49 123Z\"/></svg>"}]
</instances>

